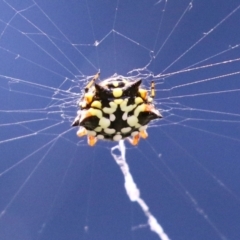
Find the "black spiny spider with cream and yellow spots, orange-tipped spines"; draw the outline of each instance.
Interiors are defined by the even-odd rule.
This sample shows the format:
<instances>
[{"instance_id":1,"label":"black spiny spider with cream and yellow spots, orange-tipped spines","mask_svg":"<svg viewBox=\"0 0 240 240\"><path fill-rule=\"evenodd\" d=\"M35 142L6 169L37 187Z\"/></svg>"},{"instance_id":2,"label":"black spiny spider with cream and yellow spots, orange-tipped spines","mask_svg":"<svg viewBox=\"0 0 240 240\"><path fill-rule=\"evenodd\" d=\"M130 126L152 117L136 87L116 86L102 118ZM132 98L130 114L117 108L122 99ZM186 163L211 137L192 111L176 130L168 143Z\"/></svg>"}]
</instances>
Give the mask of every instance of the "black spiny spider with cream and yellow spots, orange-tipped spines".
<instances>
[{"instance_id":1,"label":"black spiny spider with cream and yellow spots, orange-tipped spines","mask_svg":"<svg viewBox=\"0 0 240 240\"><path fill-rule=\"evenodd\" d=\"M97 73L86 85L72 126L80 126L77 135L87 135L90 146L98 139L119 141L125 138L137 145L140 138L147 138L148 123L162 118L153 104L154 82L151 82L148 96L148 91L140 88L141 79L129 81L113 76L97 84L99 76Z\"/></svg>"}]
</instances>

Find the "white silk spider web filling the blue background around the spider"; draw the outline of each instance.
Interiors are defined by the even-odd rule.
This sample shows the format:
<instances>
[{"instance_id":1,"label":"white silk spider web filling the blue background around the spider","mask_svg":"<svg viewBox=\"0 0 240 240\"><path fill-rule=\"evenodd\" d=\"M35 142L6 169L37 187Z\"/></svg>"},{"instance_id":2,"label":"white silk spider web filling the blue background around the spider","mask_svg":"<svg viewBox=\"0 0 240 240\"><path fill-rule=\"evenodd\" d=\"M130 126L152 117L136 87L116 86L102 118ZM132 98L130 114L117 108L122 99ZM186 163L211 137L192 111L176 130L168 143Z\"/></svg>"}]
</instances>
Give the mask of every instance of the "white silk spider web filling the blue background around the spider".
<instances>
[{"instance_id":1,"label":"white silk spider web filling the blue background around the spider","mask_svg":"<svg viewBox=\"0 0 240 240\"><path fill-rule=\"evenodd\" d=\"M1 239L239 239L235 1L0 9ZM164 118L137 147L90 148L70 127L99 70L155 81Z\"/></svg>"}]
</instances>

